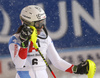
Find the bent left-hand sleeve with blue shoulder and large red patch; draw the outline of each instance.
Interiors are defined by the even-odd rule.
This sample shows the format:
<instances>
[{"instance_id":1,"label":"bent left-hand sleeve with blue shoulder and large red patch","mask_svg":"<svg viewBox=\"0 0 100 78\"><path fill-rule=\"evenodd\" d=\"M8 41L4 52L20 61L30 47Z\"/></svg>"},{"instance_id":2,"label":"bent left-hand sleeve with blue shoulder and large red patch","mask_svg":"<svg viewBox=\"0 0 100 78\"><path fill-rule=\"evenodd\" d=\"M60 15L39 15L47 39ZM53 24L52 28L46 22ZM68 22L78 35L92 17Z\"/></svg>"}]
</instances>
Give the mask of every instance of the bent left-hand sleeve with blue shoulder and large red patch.
<instances>
[{"instance_id":1,"label":"bent left-hand sleeve with blue shoulder and large red patch","mask_svg":"<svg viewBox=\"0 0 100 78\"><path fill-rule=\"evenodd\" d=\"M21 48L15 36L9 40L9 51L16 68L23 68L27 58L27 48Z\"/></svg>"}]
</instances>

